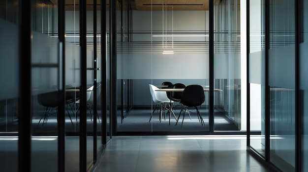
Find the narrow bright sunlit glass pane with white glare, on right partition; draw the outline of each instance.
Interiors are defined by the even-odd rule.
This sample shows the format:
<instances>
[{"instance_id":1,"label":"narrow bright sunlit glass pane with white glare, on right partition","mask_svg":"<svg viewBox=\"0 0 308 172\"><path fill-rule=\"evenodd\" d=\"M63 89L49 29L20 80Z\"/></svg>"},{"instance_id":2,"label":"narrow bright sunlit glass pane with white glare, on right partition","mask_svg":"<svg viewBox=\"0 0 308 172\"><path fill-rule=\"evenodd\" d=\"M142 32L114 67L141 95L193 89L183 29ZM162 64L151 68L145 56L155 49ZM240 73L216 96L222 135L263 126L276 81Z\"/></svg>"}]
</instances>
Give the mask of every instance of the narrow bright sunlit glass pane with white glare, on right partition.
<instances>
[{"instance_id":1,"label":"narrow bright sunlit glass pane with white glare, on right partition","mask_svg":"<svg viewBox=\"0 0 308 172\"><path fill-rule=\"evenodd\" d=\"M249 102L250 146L265 157L265 3L249 3Z\"/></svg>"}]
</instances>

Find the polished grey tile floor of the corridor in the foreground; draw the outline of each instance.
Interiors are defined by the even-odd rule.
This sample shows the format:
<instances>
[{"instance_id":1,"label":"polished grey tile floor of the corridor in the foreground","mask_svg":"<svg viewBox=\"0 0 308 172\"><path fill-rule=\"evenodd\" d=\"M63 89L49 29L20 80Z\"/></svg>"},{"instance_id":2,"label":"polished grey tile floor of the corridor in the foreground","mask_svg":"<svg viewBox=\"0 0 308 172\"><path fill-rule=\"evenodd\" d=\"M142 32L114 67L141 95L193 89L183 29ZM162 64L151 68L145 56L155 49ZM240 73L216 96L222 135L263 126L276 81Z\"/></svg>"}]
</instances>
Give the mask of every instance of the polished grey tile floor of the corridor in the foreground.
<instances>
[{"instance_id":1,"label":"polished grey tile floor of the corridor in the foreground","mask_svg":"<svg viewBox=\"0 0 308 172\"><path fill-rule=\"evenodd\" d=\"M93 172L271 172L246 135L114 136Z\"/></svg>"}]
</instances>

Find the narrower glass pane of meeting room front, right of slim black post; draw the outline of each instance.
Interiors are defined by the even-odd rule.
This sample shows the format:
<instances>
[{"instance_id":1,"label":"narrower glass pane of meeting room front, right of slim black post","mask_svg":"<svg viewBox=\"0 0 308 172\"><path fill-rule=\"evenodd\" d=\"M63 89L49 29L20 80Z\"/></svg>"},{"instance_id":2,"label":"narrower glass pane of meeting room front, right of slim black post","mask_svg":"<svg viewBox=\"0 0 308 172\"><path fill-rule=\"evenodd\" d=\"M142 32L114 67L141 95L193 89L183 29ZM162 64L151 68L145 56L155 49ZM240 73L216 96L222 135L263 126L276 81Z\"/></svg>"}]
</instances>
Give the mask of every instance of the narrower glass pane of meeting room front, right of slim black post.
<instances>
[{"instance_id":1,"label":"narrower glass pane of meeting room front, right of slim black post","mask_svg":"<svg viewBox=\"0 0 308 172\"><path fill-rule=\"evenodd\" d=\"M215 2L214 15L214 88L219 89L214 93L214 131L246 130L241 113L246 95L246 79L241 78L246 64L241 58L246 56L241 57L240 1Z\"/></svg>"}]
</instances>

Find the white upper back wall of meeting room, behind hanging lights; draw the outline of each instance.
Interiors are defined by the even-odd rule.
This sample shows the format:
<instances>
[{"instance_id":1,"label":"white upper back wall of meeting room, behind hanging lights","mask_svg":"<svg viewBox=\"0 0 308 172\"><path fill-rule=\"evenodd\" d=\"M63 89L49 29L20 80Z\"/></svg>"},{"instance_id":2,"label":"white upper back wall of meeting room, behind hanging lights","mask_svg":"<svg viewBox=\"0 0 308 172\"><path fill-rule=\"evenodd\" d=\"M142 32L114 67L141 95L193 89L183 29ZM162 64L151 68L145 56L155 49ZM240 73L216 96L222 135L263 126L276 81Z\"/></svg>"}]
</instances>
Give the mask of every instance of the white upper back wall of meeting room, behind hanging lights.
<instances>
[{"instance_id":1,"label":"white upper back wall of meeting room, behind hanging lights","mask_svg":"<svg viewBox=\"0 0 308 172\"><path fill-rule=\"evenodd\" d=\"M152 20L151 20L151 15ZM166 14L164 14L166 17ZM177 32L205 32L208 30L208 11L174 11L173 12L173 31ZM172 31L172 11L167 11L167 22L163 22L162 11L133 11L133 31L138 32L133 35L135 42L147 42L151 44L154 41L161 41L160 37L152 35L161 35L162 29L167 34ZM164 25L164 28L162 27ZM152 28L151 28L152 26ZM143 33L143 34L141 34ZM151 34L152 33L152 34ZM203 34L204 35L204 34ZM195 41L206 42L208 37L174 37L174 42L180 41ZM170 39L168 40L170 41ZM170 42L169 42L170 43ZM191 49L194 47L192 46ZM216 54L215 74L216 78L229 78L230 58L235 62L234 76L240 78L240 58L232 56L228 53ZM231 61L232 61L231 60ZM121 64L121 63L124 64ZM134 52L130 54L118 53L118 77L128 79L161 79L161 78L209 78L209 54L208 52L201 53L177 53L162 54L151 52L149 50L144 53ZM234 67L234 66L232 66ZM177 72L175 73L175 69ZM233 79L233 78L230 78Z\"/></svg>"}]
</instances>

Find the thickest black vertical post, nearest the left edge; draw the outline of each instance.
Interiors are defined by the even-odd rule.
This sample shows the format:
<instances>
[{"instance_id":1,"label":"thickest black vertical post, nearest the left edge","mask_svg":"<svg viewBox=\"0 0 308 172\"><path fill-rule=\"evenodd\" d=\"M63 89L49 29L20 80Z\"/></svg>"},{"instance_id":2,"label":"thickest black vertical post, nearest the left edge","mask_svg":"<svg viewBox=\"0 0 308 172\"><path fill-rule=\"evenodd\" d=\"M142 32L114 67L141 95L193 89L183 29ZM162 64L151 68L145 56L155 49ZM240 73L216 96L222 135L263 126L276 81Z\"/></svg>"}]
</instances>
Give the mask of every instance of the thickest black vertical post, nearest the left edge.
<instances>
[{"instance_id":1,"label":"thickest black vertical post, nearest the left edge","mask_svg":"<svg viewBox=\"0 0 308 172\"><path fill-rule=\"evenodd\" d=\"M31 1L18 1L19 108L18 171L31 172Z\"/></svg>"}]
</instances>

